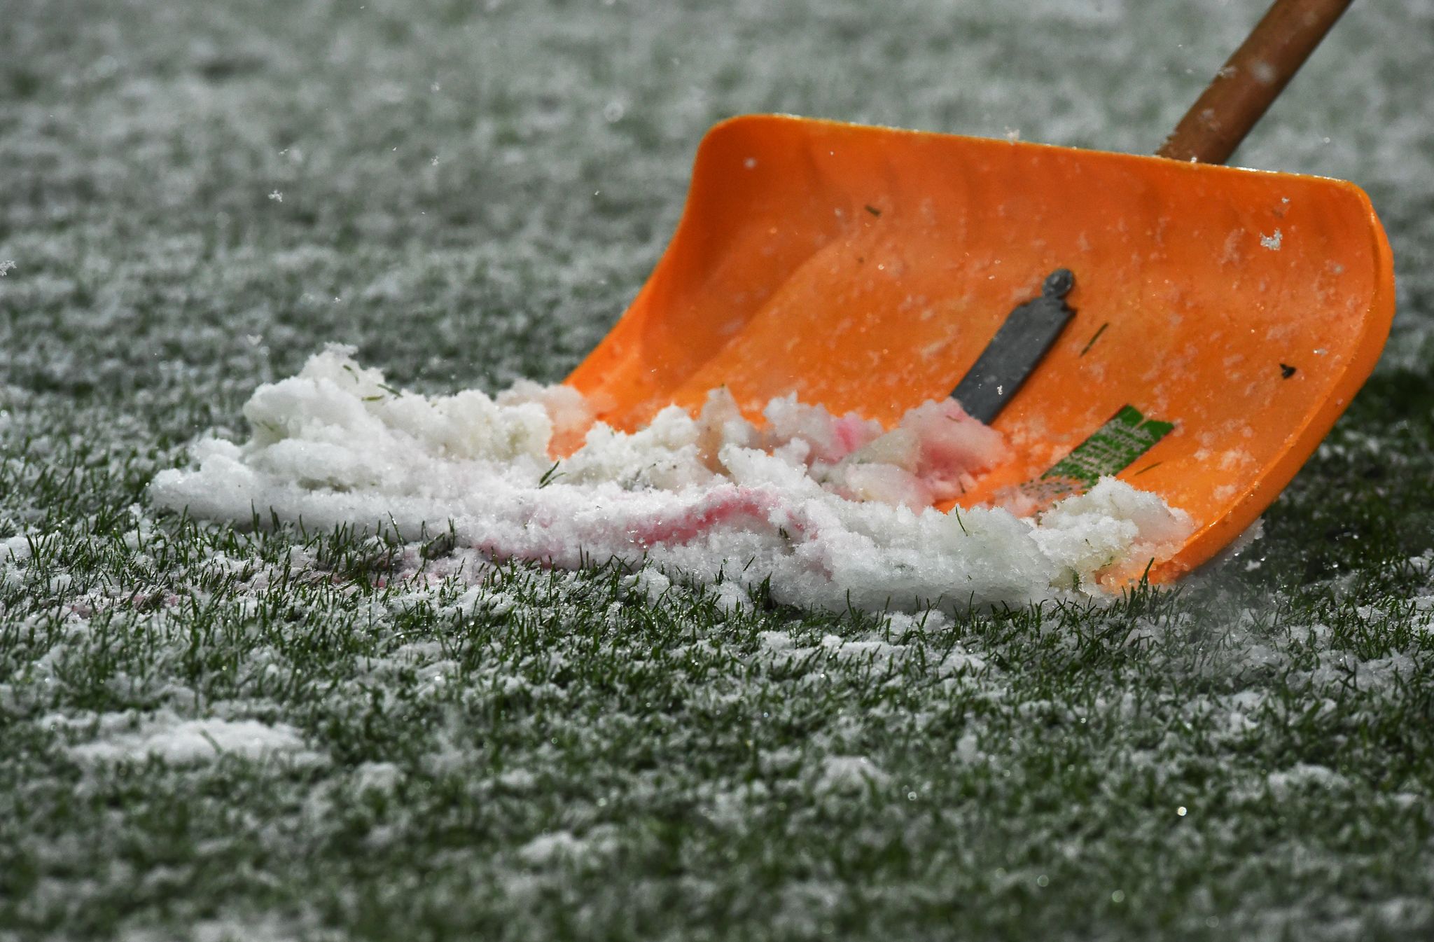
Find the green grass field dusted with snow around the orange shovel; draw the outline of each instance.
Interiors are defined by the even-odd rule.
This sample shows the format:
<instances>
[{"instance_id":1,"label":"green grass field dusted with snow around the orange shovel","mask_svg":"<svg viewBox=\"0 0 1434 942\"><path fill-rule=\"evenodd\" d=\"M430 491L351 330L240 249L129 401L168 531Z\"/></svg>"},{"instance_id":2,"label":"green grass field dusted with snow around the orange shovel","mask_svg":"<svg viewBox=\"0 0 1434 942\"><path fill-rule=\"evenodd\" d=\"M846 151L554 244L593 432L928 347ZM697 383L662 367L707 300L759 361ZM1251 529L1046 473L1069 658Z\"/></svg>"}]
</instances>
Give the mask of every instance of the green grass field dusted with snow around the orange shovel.
<instances>
[{"instance_id":1,"label":"green grass field dusted with snow around the orange shovel","mask_svg":"<svg viewBox=\"0 0 1434 942\"><path fill-rule=\"evenodd\" d=\"M561 379L723 116L1152 151L1262 6L0 0L0 939L1428 938L1430 0L1238 155L1364 185L1400 310L1174 592L812 615L146 495L327 341Z\"/></svg>"}]
</instances>

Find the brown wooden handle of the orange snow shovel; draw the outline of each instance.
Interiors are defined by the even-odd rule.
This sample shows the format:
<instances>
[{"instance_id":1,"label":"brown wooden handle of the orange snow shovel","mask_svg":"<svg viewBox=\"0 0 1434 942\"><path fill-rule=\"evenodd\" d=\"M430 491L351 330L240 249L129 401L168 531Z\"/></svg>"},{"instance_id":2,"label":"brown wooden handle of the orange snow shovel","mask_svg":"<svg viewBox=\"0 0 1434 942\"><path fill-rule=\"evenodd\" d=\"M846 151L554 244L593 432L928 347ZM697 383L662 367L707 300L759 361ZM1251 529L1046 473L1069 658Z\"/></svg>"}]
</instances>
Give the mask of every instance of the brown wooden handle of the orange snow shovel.
<instances>
[{"instance_id":1,"label":"brown wooden handle of the orange snow shovel","mask_svg":"<svg viewBox=\"0 0 1434 942\"><path fill-rule=\"evenodd\" d=\"M1156 153L1225 163L1352 1L1275 0Z\"/></svg>"}]
</instances>

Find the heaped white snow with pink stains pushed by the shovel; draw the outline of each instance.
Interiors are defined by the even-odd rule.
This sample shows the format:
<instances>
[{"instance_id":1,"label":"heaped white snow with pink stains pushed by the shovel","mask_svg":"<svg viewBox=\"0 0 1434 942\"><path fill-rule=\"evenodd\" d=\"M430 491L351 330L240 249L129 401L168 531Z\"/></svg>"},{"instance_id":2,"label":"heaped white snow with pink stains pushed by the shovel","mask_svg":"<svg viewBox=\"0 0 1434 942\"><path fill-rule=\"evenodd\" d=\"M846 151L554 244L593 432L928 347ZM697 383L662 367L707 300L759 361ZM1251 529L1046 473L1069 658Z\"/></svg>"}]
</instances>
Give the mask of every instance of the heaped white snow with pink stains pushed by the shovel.
<instances>
[{"instance_id":1,"label":"heaped white snow with pink stains pushed by the shovel","mask_svg":"<svg viewBox=\"0 0 1434 942\"><path fill-rule=\"evenodd\" d=\"M155 502L232 520L272 510L323 528L452 526L499 559L645 559L700 581L770 579L777 601L835 609L1094 592L1190 532L1184 513L1114 479L1034 520L932 509L1007 455L949 400L886 430L777 399L759 429L717 390L698 417L670 407L630 434L594 424L568 387L426 397L351 353L330 347L260 387L244 409L251 440L198 442L195 469L155 477Z\"/></svg>"}]
</instances>

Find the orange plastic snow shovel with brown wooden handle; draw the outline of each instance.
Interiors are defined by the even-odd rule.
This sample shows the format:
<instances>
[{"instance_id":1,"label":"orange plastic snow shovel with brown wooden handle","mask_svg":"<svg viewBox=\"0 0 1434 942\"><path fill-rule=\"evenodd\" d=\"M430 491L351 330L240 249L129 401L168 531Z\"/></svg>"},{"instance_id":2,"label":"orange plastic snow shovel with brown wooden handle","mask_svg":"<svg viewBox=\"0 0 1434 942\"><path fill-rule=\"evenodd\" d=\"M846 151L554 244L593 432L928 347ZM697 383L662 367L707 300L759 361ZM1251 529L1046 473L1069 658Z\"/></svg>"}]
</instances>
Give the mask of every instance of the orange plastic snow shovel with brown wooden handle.
<instances>
[{"instance_id":1,"label":"orange plastic snow shovel with brown wooden handle","mask_svg":"<svg viewBox=\"0 0 1434 942\"><path fill-rule=\"evenodd\" d=\"M1275 3L1159 156L726 120L568 381L618 427L717 386L753 414L794 391L886 423L955 390L1015 455L961 505L1116 475L1193 518L1150 572L1172 579L1269 506L1388 336L1392 260L1358 186L1213 166L1348 4Z\"/></svg>"}]
</instances>

